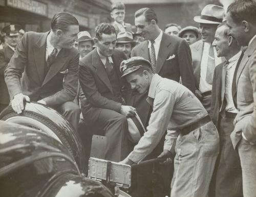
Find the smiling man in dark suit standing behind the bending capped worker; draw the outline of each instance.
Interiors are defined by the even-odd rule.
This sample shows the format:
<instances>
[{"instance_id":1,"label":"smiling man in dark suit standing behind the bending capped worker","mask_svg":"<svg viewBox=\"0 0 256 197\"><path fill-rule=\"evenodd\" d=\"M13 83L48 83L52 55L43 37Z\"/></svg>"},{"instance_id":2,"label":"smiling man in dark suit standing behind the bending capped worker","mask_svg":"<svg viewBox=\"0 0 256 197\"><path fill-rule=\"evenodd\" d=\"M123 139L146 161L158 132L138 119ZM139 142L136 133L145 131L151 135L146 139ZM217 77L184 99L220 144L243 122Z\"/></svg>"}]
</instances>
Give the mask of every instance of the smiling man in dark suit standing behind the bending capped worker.
<instances>
[{"instance_id":1,"label":"smiling man in dark suit standing behind the bending capped worker","mask_svg":"<svg viewBox=\"0 0 256 197\"><path fill-rule=\"evenodd\" d=\"M170 36L161 31L157 24L157 15L150 8L142 8L135 13L135 25L145 39L135 46L131 57L143 57L151 61L154 73L161 77L179 82L193 93L195 92L195 80L191 68L191 53L185 40ZM147 124L150 115L150 106L145 101L147 94L133 93L129 103L136 107L143 123Z\"/></svg>"}]
</instances>

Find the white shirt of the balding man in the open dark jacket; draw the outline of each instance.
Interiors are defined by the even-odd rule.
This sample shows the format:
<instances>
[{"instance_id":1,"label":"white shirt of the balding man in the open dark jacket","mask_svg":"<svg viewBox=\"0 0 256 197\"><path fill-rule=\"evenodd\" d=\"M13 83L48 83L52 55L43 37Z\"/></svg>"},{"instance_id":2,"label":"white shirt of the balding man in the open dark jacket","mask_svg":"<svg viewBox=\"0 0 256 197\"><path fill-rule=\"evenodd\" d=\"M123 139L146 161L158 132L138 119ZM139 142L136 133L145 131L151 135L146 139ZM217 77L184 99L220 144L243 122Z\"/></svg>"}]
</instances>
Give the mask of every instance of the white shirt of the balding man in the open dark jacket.
<instances>
[{"instance_id":1,"label":"white shirt of the balding man in the open dark jacket","mask_svg":"<svg viewBox=\"0 0 256 197\"><path fill-rule=\"evenodd\" d=\"M241 51L234 55L232 58L228 60L228 65L226 68L226 80L225 80L225 98L227 101L227 105L225 108L225 111L232 112L232 113L238 113L238 110L236 107L234 107L233 98L232 98L232 82L234 77L234 70L236 69L236 65L238 63L238 60L241 56Z\"/></svg>"}]
</instances>

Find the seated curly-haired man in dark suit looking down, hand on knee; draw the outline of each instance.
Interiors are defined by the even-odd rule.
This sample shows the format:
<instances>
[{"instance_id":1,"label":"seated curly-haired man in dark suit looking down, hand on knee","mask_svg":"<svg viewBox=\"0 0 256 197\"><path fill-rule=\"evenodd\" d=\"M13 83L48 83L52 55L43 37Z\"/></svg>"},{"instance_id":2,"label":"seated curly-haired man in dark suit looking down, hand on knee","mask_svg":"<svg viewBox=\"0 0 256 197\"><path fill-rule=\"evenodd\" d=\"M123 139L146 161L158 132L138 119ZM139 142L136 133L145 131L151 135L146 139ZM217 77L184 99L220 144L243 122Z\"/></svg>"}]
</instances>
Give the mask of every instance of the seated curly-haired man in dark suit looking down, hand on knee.
<instances>
[{"instance_id":1,"label":"seated curly-haired man in dark suit looking down, hand on knee","mask_svg":"<svg viewBox=\"0 0 256 197\"><path fill-rule=\"evenodd\" d=\"M115 49L116 31L108 23L95 30L97 47L80 60L79 82L87 100L82 104L84 121L107 137L105 159L121 161L129 153L127 118L135 108L126 106L119 70L125 55Z\"/></svg>"}]
</instances>

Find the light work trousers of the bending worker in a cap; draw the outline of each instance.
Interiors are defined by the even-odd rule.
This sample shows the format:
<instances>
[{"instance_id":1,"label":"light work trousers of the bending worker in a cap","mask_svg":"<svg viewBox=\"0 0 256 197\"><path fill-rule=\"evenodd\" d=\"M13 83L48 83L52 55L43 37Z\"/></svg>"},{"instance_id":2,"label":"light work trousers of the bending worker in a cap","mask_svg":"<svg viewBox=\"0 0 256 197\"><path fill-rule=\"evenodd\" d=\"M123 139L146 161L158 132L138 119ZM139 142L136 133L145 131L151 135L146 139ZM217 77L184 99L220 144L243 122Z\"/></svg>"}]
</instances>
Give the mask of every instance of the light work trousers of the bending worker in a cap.
<instances>
[{"instance_id":1,"label":"light work trousers of the bending worker in a cap","mask_svg":"<svg viewBox=\"0 0 256 197\"><path fill-rule=\"evenodd\" d=\"M180 134L175 152L170 196L208 196L219 152L219 134L212 121L186 135Z\"/></svg>"}]
</instances>

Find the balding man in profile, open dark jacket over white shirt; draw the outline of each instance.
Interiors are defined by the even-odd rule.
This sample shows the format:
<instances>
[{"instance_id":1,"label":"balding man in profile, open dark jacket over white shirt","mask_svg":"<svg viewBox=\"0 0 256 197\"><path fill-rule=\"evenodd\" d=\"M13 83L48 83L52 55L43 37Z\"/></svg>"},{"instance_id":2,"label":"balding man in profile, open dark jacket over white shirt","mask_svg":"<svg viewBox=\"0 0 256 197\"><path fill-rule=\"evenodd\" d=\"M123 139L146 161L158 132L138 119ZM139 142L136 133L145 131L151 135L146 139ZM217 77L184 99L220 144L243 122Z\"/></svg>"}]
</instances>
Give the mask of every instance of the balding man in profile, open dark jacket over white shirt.
<instances>
[{"instance_id":1,"label":"balding man in profile, open dark jacket over white shirt","mask_svg":"<svg viewBox=\"0 0 256 197\"><path fill-rule=\"evenodd\" d=\"M232 98L233 76L243 56L237 41L229 35L226 21L218 26L212 46L216 47L217 56L224 57L226 61L216 66L212 80L211 113L220 134L220 154L216 173L212 177L210 196L240 197L243 196L242 169L230 134L234 129L234 117L238 113Z\"/></svg>"}]
</instances>

